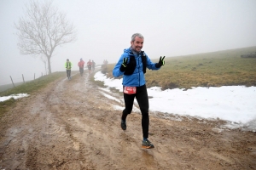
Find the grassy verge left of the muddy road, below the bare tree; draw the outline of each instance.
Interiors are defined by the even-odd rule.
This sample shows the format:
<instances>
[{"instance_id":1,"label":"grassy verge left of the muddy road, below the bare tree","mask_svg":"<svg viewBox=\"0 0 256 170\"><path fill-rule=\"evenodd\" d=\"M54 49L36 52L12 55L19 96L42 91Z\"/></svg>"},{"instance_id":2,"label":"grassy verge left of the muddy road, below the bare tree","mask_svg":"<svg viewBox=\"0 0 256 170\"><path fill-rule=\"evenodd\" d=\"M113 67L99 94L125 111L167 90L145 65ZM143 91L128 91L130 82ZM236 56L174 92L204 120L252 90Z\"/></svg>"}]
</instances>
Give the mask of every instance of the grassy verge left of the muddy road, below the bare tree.
<instances>
[{"instance_id":1,"label":"grassy verge left of the muddy road, below the bare tree","mask_svg":"<svg viewBox=\"0 0 256 170\"><path fill-rule=\"evenodd\" d=\"M0 96L9 96L10 94L32 94L38 92L39 89L47 87L50 82L66 77L66 72L55 72L50 75L40 77L34 81L23 83L15 88L10 88L0 93ZM11 98L0 102L0 117L15 106L15 99Z\"/></svg>"}]
</instances>

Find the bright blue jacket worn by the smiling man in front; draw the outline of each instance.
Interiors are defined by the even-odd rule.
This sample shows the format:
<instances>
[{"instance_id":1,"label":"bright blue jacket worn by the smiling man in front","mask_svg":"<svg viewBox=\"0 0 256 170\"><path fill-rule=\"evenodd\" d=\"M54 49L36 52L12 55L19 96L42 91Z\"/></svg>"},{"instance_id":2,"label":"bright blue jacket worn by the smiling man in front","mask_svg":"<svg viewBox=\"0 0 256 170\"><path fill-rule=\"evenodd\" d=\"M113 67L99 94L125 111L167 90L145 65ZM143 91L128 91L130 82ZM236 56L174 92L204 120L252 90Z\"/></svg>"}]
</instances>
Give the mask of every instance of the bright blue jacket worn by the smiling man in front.
<instances>
[{"instance_id":1,"label":"bright blue jacket worn by the smiling man in front","mask_svg":"<svg viewBox=\"0 0 256 170\"><path fill-rule=\"evenodd\" d=\"M145 54L145 53L144 53ZM120 71L119 68L123 63L124 58L128 58L128 64L130 62L130 55L133 55L136 59L136 68L131 75L124 75L124 72ZM150 70L159 70L160 68L155 67L155 63L152 63L151 60L147 59L147 68ZM146 84L144 73L143 73L143 61L141 54L134 54L131 52L131 48L127 48L124 50L124 54L119 58L118 63L113 68L113 77L123 76L123 85L130 87L140 87Z\"/></svg>"}]
</instances>

